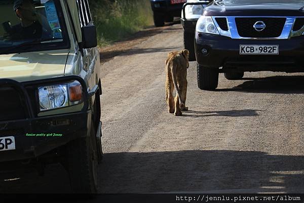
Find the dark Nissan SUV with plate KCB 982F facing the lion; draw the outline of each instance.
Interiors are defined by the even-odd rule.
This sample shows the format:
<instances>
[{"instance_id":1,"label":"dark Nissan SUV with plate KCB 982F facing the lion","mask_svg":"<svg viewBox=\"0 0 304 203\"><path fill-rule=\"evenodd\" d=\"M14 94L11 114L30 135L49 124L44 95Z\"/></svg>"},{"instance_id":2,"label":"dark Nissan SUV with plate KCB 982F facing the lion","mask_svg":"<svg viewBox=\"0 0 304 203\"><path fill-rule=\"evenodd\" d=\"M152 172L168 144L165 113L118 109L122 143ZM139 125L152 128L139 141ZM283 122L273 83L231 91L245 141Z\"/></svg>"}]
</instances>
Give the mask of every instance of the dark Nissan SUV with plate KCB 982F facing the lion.
<instances>
[{"instance_id":1,"label":"dark Nissan SUV with plate KCB 982F facing the lion","mask_svg":"<svg viewBox=\"0 0 304 203\"><path fill-rule=\"evenodd\" d=\"M304 72L303 32L303 0L214 0L196 25L199 88L216 89L219 72Z\"/></svg>"}]
</instances>

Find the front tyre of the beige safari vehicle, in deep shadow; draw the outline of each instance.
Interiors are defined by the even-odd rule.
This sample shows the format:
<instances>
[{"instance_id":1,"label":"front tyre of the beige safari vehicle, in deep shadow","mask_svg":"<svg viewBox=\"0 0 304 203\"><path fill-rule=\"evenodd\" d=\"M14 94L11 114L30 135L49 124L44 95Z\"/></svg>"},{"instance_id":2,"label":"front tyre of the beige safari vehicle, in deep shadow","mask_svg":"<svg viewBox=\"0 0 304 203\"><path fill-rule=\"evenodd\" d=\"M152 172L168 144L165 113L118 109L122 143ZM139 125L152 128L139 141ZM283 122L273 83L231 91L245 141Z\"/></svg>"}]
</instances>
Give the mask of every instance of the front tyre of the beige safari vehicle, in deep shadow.
<instances>
[{"instance_id":1,"label":"front tyre of the beige safari vehicle, in deep shadow","mask_svg":"<svg viewBox=\"0 0 304 203\"><path fill-rule=\"evenodd\" d=\"M67 172L75 193L97 192L97 150L93 126L91 136L67 144Z\"/></svg>"}]
</instances>

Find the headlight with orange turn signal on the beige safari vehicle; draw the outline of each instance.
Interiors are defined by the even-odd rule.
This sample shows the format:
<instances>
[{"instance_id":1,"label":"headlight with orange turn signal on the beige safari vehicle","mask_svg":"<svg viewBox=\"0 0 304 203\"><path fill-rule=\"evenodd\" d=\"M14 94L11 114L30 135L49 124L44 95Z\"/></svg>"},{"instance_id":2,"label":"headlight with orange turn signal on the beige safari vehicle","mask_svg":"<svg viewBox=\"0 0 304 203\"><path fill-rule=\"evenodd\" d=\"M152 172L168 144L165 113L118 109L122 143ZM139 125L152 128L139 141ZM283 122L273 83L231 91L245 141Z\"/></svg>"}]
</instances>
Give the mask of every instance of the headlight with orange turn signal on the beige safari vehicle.
<instances>
[{"instance_id":1,"label":"headlight with orange turn signal on the beige safari vehicle","mask_svg":"<svg viewBox=\"0 0 304 203\"><path fill-rule=\"evenodd\" d=\"M80 104L82 86L78 81L38 87L40 110L50 110Z\"/></svg>"}]
</instances>

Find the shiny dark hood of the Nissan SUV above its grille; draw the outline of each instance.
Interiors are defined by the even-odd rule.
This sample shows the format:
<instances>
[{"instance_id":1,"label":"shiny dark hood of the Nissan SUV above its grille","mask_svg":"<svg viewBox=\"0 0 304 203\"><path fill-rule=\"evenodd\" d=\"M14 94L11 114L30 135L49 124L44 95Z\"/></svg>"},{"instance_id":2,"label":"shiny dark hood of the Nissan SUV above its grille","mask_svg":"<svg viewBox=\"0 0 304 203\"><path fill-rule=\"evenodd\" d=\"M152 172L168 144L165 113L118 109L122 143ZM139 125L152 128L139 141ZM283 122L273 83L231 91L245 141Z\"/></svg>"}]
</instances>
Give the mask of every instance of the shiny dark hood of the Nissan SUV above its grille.
<instances>
[{"instance_id":1,"label":"shiny dark hood of the Nissan SUV above its grille","mask_svg":"<svg viewBox=\"0 0 304 203\"><path fill-rule=\"evenodd\" d=\"M206 16L304 16L303 0L215 0Z\"/></svg>"}]
</instances>

